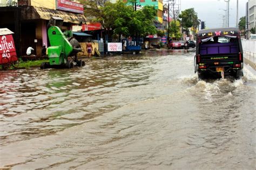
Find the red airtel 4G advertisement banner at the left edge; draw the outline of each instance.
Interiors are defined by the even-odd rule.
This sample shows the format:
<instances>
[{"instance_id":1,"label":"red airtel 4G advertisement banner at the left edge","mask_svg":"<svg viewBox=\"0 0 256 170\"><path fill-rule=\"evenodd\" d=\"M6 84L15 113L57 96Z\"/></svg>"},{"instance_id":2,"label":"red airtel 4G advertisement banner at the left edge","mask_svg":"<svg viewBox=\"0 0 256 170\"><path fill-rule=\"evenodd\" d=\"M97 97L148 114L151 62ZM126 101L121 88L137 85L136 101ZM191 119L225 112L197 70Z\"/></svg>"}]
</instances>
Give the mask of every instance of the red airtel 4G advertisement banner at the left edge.
<instances>
[{"instance_id":1,"label":"red airtel 4G advertisement banner at the left edge","mask_svg":"<svg viewBox=\"0 0 256 170\"><path fill-rule=\"evenodd\" d=\"M17 61L12 35L0 36L0 64Z\"/></svg>"}]
</instances>

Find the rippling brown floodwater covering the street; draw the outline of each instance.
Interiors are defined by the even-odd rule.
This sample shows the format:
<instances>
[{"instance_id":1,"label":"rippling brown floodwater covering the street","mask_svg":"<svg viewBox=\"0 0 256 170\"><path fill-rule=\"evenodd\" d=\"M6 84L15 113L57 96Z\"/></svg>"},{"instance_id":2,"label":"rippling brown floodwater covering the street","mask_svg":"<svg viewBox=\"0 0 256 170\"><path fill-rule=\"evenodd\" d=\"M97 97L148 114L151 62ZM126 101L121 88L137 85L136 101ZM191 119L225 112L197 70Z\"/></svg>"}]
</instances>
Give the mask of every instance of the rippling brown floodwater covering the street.
<instances>
[{"instance_id":1,"label":"rippling brown floodwater covering the street","mask_svg":"<svg viewBox=\"0 0 256 170\"><path fill-rule=\"evenodd\" d=\"M0 168L255 169L255 74L198 81L193 56L1 71Z\"/></svg>"}]
</instances>

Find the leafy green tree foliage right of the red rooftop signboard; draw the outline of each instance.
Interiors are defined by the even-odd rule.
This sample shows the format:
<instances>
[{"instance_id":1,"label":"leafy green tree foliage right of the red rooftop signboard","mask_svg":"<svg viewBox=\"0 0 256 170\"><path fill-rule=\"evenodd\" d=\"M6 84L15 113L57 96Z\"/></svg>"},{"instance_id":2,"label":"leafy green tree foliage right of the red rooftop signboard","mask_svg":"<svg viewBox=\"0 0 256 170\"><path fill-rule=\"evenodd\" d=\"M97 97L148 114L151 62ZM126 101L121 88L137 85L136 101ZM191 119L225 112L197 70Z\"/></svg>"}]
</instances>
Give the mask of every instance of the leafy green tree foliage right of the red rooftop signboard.
<instances>
[{"instance_id":1,"label":"leafy green tree foliage right of the red rooftop signboard","mask_svg":"<svg viewBox=\"0 0 256 170\"><path fill-rule=\"evenodd\" d=\"M105 2L104 5L98 5L97 1L80 2L85 6L86 18L92 22L100 22L109 33L111 30L111 34L123 34L125 37L156 34L153 21L157 16L157 10L153 6L144 6L142 10L133 11L132 6L122 1Z\"/></svg>"}]
</instances>

